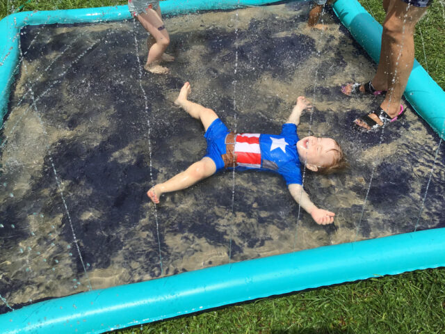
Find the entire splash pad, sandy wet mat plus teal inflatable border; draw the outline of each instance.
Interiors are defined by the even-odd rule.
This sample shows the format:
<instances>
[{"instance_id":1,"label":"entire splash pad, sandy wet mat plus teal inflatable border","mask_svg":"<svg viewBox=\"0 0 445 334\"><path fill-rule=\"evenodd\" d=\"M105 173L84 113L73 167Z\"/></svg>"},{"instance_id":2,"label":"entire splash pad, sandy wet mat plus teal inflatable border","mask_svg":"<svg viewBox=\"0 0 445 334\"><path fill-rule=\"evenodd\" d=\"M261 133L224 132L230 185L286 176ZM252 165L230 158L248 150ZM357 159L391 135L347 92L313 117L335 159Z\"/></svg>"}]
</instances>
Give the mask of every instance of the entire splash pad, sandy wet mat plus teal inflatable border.
<instances>
[{"instance_id":1,"label":"entire splash pad, sandy wet mat plus teal inflatable border","mask_svg":"<svg viewBox=\"0 0 445 334\"><path fill-rule=\"evenodd\" d=\"M357 134L351 121L378 100L345 98L339 86L375 71L355 42L373 40L364 27L375 22L350 9L357 3L337 1L354 40L335 15L324 31L305 29L308 3L234 9L253 4L161 3L176 58L168 76L141 70L147 36L126 6L3 19L8 29L22 26L8 30L17 48L6 48L0 67L9 71L1 133L6 333L104 333L444 265L443 126L422 105L430 98L444 110L443 90L419 93L426 85L416 81L426 77L416 64L405 118L383 138ZM345 173L305 173L305 189L336 212L335 223L316 225L268 173L220 173L156 208L149 203L152 184L205 152L200 124L172 103L185 81L191 100L238 131L278 133L298 95L312 100L300 137L335 138L351 164Z\"/></svg>"}]
</instances>

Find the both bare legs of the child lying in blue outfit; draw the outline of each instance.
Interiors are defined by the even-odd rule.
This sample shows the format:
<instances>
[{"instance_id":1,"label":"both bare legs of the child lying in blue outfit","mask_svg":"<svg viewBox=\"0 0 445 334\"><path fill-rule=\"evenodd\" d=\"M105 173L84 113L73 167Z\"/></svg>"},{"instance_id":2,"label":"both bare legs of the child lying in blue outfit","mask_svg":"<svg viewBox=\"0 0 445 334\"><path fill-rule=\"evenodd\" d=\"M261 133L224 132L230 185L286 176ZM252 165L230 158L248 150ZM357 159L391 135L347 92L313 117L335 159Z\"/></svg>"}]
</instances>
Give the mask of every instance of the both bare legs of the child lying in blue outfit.
<instances>
[{"instance_id":1,"label":"both bare legs of the child lying in blue outfit","mask_svg":"<svg viewBox=\"0 0 445 334\"><path fill-rule=\"evenodd\" d=\"M188 101L188 95L191 93L191 86L188 82L182 86L181 91L175 104L180 106L182 109L187 111L193 118L201 120L204 129L207 131L213 120L218 118L215 111L205 108L204 106L197 104L195 102ZM195 162L190 167L188 167L184 172L181 172L170 180L156 184L149 191L147 191L147 196L154 203L159 203L159 198L163 193L169 193L172 191L186 189L189 186L203 180L216 172L216 164L209 157L204 157L200 161Z\"/></svg>"}]
</instances>

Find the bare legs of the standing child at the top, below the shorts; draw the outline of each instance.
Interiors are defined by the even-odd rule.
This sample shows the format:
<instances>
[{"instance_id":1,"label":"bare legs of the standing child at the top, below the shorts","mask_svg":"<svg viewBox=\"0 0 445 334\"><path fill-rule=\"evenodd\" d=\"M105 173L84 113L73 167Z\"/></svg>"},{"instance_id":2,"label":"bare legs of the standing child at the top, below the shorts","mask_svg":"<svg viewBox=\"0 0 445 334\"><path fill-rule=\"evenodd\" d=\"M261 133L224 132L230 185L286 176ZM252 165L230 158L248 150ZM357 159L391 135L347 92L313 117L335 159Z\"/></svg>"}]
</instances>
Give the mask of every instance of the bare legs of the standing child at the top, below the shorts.
<instances>
[{"instance_id":1,"label":"bare legs of the standing child at the top, below the shorts","mask_svg":"<svg viewBox=\"0 0 445 334\"><path fill-rule=\"evenodd\" d=\"M155 10L147 9L146 13L140 13L137 17L140 24L142 24L145 30L156 40L148 50L145 70L156 74L167 73L168 68L159 65L163 52L170 44L170 36L165 30L161 16L159 13L156 13Z\"/></svg>"}]
</instances>

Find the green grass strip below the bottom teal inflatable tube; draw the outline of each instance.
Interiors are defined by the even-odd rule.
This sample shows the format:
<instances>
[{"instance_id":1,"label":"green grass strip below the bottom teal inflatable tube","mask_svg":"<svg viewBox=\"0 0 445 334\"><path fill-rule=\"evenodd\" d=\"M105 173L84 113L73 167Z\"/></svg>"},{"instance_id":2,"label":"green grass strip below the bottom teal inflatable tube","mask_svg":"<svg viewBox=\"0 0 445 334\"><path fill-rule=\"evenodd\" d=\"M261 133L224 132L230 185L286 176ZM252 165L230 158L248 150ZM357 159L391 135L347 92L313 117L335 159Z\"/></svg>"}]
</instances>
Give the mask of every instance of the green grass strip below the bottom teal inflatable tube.
<instances>
[{"instance_id":1,"label":"green grass strip below the bottom teal inflatable tube","mask_svg":"<svg viewBox=\"0 0 445 334\"><path fill-rule=\"evenodd\" d=\"M114 333L445 333L444 282L444 269L415 271Z\"/></svg>"}]
</instances>

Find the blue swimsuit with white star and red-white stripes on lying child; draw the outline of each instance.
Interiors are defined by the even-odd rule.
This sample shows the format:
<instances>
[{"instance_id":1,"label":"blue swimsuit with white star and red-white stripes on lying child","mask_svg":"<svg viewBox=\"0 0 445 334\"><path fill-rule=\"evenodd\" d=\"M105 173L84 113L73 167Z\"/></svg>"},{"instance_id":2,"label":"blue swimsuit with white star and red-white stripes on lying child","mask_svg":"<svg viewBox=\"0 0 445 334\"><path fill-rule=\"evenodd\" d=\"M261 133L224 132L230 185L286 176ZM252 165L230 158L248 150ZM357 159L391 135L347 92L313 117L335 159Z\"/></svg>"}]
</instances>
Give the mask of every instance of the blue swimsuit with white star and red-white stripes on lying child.
<instances>
[{"instance_id":1,"label":"blue swimsuit with white star and red-white stripes on lying child","mask_svg":"<svg viewBox=\"0 0 445 334\"><path fill-rule=\"evenodd\" d=\"M297 152L297 126L282 125L281 134L234 134L217 118L204 134L207 154L216 171L257 169L279 173L286 185L302 184Z\"/></svg>"}]
</instances>

